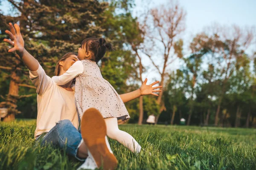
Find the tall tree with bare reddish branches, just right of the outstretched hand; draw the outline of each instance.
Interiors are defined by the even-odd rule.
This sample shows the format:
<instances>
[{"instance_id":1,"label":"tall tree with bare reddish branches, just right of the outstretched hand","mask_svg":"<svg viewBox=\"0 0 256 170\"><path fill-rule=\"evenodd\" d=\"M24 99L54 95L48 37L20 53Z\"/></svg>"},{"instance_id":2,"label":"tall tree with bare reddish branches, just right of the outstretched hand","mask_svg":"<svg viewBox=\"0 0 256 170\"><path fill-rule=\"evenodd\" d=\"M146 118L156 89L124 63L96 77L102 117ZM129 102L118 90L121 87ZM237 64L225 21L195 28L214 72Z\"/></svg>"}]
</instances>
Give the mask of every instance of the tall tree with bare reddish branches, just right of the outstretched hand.
<instances>
[{"instance_id":1,"label":"tall tree with bare reddish branches, just right of the outstretched hand","mask_svg":"<svg viewBox=\"0 0 256 170\"><path fill-rule=\"evenodd\" d=\"M145 51L151 60L157 73L160 74L160 85L163 86L167 74L167 68L177 58L183 57L183 41L179 36L185 29L186 13L179 3L169 3L153 8L149 17L145 20ZM152 42L152 40L154 42ZM164 90L164 86L163 86ZM157 103L160 105L160 112L157 115L156 123L163 110L166 110L163 98L163 91L159 93Z\"/></svg>"}]
</instances>

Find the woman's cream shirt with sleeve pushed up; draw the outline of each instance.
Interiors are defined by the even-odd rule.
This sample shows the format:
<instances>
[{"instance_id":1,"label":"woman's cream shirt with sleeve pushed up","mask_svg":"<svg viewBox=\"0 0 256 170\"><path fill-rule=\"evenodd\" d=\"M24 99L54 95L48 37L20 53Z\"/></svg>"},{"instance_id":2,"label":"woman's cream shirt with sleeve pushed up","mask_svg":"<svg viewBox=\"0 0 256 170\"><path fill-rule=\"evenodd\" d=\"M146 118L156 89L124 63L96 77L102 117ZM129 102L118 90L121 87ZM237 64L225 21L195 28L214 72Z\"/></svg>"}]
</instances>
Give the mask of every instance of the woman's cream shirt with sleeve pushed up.
<instances>
[{"instance_id":1,"label":"woman's cream shirt with sleeve pushed up","mask_svg":"<svg viewBox=\"0 0 256 170\"><path fill-rule=\"evenodd\" d=\"M79 127L79 116L76 112L75 92L67 91L52 81L39 64L37 71L29 71L29 78L37 88L38 115L35 137L49 132L56 122L68 119Z\"/></svg>"}]
</instances>

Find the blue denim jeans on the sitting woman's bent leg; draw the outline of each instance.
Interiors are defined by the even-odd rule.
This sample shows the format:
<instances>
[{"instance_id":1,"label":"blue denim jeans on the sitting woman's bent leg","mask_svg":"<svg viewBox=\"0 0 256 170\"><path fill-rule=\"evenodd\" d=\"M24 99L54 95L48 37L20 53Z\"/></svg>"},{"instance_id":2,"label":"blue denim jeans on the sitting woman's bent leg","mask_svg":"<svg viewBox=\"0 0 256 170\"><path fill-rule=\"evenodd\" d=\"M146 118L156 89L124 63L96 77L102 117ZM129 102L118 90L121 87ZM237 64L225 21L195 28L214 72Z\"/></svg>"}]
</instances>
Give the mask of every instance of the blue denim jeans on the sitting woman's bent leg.
<instances>
[{"instance_id":1,"label":"blue denim jeans on the sitting woman's bent leg","mask_svg":"<svg viewBox=\"0 0 256 170\"><path fill-rule=\"evenodd\" d=\"M81 133L79 133L70 120L61 120L56 122L56 125L48 133L42 133L38 136L36 142L39 142L41 146L52 144L55 147L65 149L67 154L76 157L80 161L84 161L85 159L77 156L78 145L81 139Z\"/></svg>"}]
</instances>

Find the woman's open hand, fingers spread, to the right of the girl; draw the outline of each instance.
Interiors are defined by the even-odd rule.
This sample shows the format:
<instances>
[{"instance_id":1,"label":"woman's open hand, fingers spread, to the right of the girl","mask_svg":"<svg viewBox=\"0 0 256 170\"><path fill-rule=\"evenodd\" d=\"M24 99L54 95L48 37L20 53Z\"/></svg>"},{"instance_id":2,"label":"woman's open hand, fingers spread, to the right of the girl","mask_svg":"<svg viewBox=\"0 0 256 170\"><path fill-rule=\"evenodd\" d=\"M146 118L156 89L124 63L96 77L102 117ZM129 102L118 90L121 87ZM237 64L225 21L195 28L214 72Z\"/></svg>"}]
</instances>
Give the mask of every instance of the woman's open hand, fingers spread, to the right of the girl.
<instances>
[{"instance_id":1,"label":"woman's open hand, fingers spread, to the right of the girl","mask_svg":"<svg viewBox=\"0 0 256 170\"><path fill-rule=\"evenodd\" d=\"M145 81L140 86L140 95L152 94L154 96L158 96L158 94L155 94L155 93L160 92L162 90L155 90L155 89L162 88L163 86L152 87L153 85L159 83L159 81L153 82L150 85L146 85L147 81L148 81L148 79L146 78Z\"/></svg>"}]
</instances>

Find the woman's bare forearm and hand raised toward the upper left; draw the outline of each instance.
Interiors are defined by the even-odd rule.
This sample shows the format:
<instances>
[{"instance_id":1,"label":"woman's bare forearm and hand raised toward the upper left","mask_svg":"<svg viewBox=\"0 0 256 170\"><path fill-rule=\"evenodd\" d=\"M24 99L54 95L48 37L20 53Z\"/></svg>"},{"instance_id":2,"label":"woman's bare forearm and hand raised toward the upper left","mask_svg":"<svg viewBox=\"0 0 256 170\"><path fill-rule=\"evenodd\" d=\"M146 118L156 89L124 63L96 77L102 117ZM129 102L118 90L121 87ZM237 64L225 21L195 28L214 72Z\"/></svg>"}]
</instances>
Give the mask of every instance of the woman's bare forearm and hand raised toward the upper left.
<instances>
[{"instance_id":1,"label":"woman's bare forearm and hand raised toward the upper left","mask_svg":"<svg viewBox=\"0 0 256 170\"><path fill-rule=\"evenodd\" d=\"M13 48L9 49L8 52L16 51L20 59L22 59L30 71L37 71L39 67L38 61L24 48L24 40L20 34L20 27L17 24L14 24L13 27L12 23L9 23L9 26L10 31L6 30L5 32L9 35L11 40L6 38L3 40L4 42L8 42L10 45L13 45Z\"/></svg>"}]
</instances>

